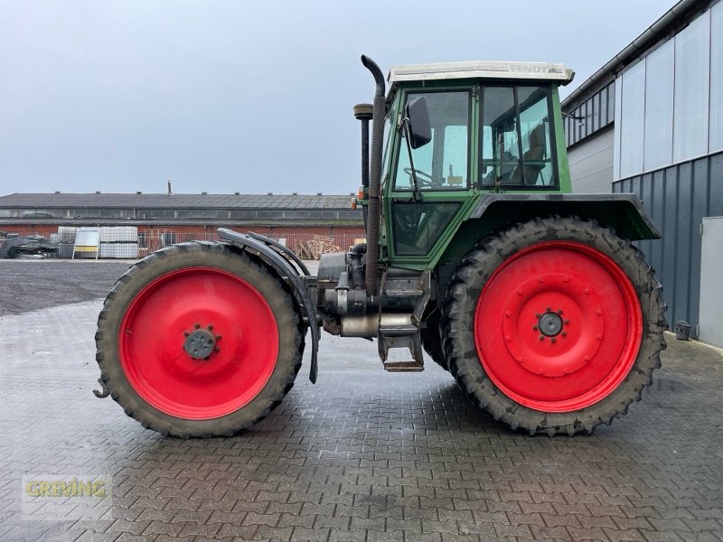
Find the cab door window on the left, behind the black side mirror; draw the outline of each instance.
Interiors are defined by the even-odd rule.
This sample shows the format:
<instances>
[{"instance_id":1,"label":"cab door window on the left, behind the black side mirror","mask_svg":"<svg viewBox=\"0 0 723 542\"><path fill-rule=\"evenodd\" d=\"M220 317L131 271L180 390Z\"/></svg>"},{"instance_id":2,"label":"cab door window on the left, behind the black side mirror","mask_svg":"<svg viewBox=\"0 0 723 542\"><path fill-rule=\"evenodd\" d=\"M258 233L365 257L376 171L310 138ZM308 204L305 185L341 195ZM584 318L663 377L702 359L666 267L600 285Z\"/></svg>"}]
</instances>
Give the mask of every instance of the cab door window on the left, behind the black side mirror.
<instances>
[{"instance_id":1,"label":"cab door window on the left, behind the black side mirror","mask_svg":"<svg viewBox=\"0 0 723 542\"><path fill-rule=\"evenodd\" d=\"M421 93L409 93L407 101ZM425 92L432 140L412 149L419 190L464 190L469 185L470 94L466 90ZM402 131L394 189L412 190L414 181Z\"/></svg>"}]
</instances>

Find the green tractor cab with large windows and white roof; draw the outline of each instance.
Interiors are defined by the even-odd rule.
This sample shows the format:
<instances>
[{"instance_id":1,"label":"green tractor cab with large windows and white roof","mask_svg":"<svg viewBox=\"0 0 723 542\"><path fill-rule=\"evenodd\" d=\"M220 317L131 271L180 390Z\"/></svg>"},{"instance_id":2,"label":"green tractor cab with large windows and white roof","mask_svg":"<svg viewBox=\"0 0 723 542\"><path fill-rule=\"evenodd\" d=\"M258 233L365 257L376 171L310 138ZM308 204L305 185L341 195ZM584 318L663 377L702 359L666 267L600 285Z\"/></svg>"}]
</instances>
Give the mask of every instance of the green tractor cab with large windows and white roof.
<instances>
[{"instance_id":1,"label":"green tractor cab with large windows and white roof","mask_svg":"<svg viewBox=\"0 0 723 542\"><path fill-rule=\"evenodd\" d=\"M558 86L572 77L548 63L391 68L381 173L391 261L427 266L484 193L570 192Z\"/></svg>"}]
</instances>

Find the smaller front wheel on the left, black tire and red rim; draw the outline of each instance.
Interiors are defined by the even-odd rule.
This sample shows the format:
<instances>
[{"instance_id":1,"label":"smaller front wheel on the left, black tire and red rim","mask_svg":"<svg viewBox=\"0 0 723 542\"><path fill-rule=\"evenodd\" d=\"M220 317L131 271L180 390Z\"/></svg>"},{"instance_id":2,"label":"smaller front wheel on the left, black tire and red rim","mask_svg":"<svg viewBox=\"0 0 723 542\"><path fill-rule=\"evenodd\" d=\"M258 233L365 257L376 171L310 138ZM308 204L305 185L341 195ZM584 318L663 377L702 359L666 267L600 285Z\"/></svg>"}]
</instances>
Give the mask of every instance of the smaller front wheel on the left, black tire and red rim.
<instances>
[{"instance_id":1,"label":"smaller front wheel on the left, black tire and red rim","mask_svg":"<svg viewBox=\"0 0 723 542\"><path fill-rule=\"evenodd\" d=\"M183 243L118 279L99 315L96 359L111 396L145 427L233 435L293 386L303 332L265 266L220 243Z\"/></svg>"}]
</instances>

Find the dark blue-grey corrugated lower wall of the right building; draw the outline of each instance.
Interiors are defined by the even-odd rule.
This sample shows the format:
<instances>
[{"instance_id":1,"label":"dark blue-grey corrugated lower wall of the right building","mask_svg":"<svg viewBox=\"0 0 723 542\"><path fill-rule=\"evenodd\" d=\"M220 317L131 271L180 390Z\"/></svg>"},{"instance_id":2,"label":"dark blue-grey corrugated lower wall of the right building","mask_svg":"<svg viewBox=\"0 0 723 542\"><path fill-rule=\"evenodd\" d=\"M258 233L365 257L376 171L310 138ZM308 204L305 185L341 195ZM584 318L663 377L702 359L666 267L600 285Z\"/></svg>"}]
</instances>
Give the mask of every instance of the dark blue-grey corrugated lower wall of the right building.
<instances>
[{"instance_id":1,"label":"dark blue-grey corrugated lower wall of the right building","mask_svg":"<svg viewBox=\"0 0 723 542\"><path fill-rule=\"evenodd\" d=\"M723 153L614 182L613 192L637 194L661 229L662 239L642 241L639 246L662 283L671 328L686 320L697 333L700 224L703 217L723 215Z\"/></svg>"}]
</instances>

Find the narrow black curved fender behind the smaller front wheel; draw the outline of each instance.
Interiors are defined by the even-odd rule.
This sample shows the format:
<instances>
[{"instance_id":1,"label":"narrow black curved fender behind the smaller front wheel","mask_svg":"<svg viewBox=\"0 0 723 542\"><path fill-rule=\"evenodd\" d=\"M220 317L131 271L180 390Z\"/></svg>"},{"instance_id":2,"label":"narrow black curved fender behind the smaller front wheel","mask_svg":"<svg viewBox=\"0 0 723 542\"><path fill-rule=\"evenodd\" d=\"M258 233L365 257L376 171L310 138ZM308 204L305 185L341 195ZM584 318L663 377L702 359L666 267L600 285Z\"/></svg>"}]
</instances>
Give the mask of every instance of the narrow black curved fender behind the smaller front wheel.
<instances>
[{"instance_id":1,"label":"narrow black curved fender behind the smaller front wheel","mask_svg":"<svg viewBox=\"0 0 723 542\"><path fill-rule=\"evenodd\" d=\"M306 289L302 276L299 274L302 272L306 273L305 276L308 276L308 269L306 269L300 260L298 262L296 261L298 258L296 258L295 255L292 260L296 263L296 266L299 267L297 269L291 264L291 261L289 261L290 256L287 252L290 251L288 251L287 248L280 250L280 245L277 246L277 244L268 243L267 238L258 234L242 234L225 228L218 229L218 234L222 240L230 243L231 245L256 254L264 261L264 263L276 270L279 277L282 279L288 279L287 283L292 286L296 302L302 308L302 317L304 318L305 323L311 328L312 350L309 380L315 384L318 370L316 356L319 350L319 337L321 333L319 331L319 324L316 322L315 304Z\"/></svg>"}]
</instances>

